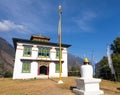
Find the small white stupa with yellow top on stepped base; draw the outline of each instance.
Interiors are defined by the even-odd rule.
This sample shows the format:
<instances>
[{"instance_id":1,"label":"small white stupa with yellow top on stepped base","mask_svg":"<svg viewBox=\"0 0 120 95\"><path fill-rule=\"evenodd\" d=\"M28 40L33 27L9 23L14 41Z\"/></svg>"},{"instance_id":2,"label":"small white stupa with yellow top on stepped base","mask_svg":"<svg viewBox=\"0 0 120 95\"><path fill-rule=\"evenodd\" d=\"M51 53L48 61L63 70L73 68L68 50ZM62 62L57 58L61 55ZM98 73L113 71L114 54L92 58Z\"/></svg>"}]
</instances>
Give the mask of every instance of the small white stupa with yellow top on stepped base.
<instances>
[{"instance_id":1,"label":"small white stupa with yellow top on stepped base","mask_svg":"<svg viewBox=\"0 0 120 95\"><path fill-rule=\"evenodd\" d=\"M84 65L80 68L81 77L75 78L77 88L73 89L77 95L103 95L99 83L101 79L93 78L93 67L89 65L89 60L84 59Z\"/></svg>"}]
</instances>

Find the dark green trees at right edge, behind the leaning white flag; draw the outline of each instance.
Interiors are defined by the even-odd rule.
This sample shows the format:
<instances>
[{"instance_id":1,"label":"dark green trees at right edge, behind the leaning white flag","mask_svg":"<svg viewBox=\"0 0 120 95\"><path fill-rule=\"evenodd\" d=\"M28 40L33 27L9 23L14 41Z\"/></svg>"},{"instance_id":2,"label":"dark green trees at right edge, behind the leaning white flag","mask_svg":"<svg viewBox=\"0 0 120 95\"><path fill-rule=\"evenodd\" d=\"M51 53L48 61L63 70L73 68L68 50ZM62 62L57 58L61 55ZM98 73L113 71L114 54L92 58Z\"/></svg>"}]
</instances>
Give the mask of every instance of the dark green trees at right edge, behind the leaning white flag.
<instances>
[{"instance_id":1,"label":"dark green trees at right edge, behind the leaning white flag","mask_svg":"<svg viewBox=\"0 0 120 95\"><path fill-rule=\"evenodd\" d=\"M117 81L120 81L120 37L117 37L111 44L111 50L113 53L112 62L115 69ZM97 77L102 77L104 79L113 80L114 76L111 74L111 70L108 66L107 57L103 57L99 64L96 66L96 75Z\"/></svg>"}]
</instances>

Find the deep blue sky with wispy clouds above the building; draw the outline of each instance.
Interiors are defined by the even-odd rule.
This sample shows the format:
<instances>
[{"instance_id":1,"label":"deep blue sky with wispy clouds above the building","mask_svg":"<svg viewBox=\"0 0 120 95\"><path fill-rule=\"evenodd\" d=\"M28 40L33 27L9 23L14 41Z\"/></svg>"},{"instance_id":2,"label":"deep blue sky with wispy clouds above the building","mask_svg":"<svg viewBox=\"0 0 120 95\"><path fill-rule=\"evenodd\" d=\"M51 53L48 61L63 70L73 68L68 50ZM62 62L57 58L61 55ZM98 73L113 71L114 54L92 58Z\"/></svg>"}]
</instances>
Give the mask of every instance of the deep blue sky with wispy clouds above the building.
<instances>
[{"instance_id":1,"label":"deep blue sky with wispy clouds above the building","mask_svg":"<svg viewBox=\"0 0 120 95\"><path fill-rule=\"evenodd\" d=\"M120 0L0 0L0 37L31 35L58 43L58 6L62 6L62 43L68 52L98 62L120 35Z\"/></svg>"}]
</instances>

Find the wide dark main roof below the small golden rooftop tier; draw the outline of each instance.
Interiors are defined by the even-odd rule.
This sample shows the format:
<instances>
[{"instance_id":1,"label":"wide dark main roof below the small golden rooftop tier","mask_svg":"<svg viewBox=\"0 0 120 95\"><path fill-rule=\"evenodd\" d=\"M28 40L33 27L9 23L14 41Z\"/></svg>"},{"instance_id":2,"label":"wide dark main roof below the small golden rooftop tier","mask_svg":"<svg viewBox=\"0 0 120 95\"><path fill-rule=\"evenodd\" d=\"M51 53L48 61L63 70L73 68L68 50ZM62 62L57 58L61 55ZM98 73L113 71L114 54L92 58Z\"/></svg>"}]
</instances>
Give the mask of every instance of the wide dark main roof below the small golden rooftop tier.
<instances>
[{"instance_id":1,"label":"wide dark main roof below the small golden rooftop tier","mask_svg":"<svg viewBox=\"0 0 120 95\"><path fill-rule=\"evenodd\" d=\"M34 41L34 40L26 40L26 39L13 38L13 44L14 44L15 49L16 49L17 43L27 43L27 44L36 44L36 45L46 45L46 46L57 46L57 47L59 47L59 43L40 42L40 41ZM61 44L61 46L68 48L71 45Z\"/></svg>"}]
</instances>

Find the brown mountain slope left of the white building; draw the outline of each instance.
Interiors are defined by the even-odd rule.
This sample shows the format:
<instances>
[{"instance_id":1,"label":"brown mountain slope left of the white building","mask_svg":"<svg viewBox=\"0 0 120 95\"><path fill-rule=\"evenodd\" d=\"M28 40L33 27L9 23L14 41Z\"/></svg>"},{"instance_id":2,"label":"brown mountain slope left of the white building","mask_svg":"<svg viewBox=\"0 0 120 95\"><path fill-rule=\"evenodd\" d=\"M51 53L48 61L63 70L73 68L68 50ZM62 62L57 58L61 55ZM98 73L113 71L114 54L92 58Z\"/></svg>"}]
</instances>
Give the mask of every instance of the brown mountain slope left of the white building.
<instances>
[{"instance_id":1,"label":"brown mountain slope left of the white building","mask_svg":"<svg viewBox=\"0 0 120 95\"><path fill-rule=\"evenodd\" d=\"M0 75L13 72L15 50L6 40L0 38Z\"/></svg>"}]
</instances>

